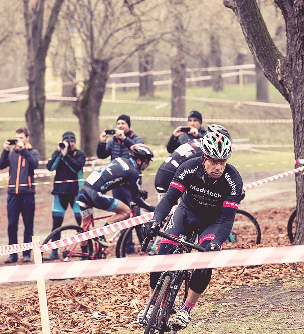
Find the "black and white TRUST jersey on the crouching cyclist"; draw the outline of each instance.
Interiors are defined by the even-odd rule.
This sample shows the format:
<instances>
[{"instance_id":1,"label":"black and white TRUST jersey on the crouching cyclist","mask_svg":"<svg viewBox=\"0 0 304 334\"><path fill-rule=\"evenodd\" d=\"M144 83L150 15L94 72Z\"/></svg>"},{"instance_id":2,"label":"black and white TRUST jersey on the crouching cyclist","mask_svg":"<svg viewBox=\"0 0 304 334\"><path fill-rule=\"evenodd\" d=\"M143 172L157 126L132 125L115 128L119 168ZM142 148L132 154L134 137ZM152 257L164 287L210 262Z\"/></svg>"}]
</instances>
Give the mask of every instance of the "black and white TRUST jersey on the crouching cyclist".
<instances>
[{"instance_id":1,"label":"black and white TRUST jersey on the crouching cyclist","mask_svg":"<svg viewBox=\"0 0 304 334\"><path fill-rule=\"evenodd\" d=\"M133 158L116 158L98 171L93 171L85 180L84 186L105 194L123 185L130 190L133 202L148 211L153 211L154 207L142 200L139 195L139 174L140 170Z\"/></svg>"}]
</instances>

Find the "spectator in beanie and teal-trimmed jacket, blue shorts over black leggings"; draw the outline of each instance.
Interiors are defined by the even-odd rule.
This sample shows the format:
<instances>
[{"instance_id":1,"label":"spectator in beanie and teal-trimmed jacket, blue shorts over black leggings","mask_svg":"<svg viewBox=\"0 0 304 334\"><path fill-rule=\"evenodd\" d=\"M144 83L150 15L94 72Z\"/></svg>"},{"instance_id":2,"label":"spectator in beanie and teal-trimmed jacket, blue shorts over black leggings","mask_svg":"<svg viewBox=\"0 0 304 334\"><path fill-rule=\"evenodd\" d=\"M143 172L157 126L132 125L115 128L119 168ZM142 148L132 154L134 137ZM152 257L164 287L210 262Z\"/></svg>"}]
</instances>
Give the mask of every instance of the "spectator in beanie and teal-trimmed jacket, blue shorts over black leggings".
<instances>
[{"instance_id":1,"label":"spectator in beanie and teal-trimmed jacket, blue shorts over black leggings","mask_svg":"<svg viewBox=\"0 0 304 334\"><path fill-rule=\"evenodd\" d=\"M86 155L83 151L76 149L76 137L71 131L67 131L62 136L62 141L57 142L57 149L47 163L47 169L56 170L55 182L66 180L78 180L74 182L54 183L52 194L54 195L52 203L53 228L52 231L60 227L63 222L65 211L70 204L77 224L81 225L81 215L79 205L76 203L78 191L82 186L83 166ZM52 241L59 240L60 234L55 234ZM45 260L54 260L58 258L57 249L53 249L49 258Z\"/></svg>"}]
</instances>

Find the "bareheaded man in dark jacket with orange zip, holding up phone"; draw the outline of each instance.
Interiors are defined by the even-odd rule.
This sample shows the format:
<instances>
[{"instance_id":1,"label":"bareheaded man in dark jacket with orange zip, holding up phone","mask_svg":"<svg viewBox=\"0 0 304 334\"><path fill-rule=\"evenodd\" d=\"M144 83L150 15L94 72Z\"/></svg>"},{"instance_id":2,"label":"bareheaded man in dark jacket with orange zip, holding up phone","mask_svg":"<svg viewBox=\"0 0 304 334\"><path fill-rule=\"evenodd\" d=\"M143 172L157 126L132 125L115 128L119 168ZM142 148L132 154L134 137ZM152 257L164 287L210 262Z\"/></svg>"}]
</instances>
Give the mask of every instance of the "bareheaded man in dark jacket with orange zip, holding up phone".
<instances>
[{"instance_id":1,"label":"bareheaded man in dark jacket with orange zip, holding up phone","mask_svg":"<svg viewBox=\"0 0 304 334\"><path fill-rule=\"evenodd\" d=\"M9 169L9 188L7 198L8 235L9 244L17 244L17 230L19 214L22 214L24 224L23 242L32 242L34 212L35 212L35 186L34 169L38 167L39 152L29 143L27 128L20 127L15 132L16 144L10 149L10 142L3 144L4 150L0 157L0 169ZM11 254L5 263L17 262L17 253ZM23 252L23 262L31 261L31 250Z\"/></svg>"}]
</instances>

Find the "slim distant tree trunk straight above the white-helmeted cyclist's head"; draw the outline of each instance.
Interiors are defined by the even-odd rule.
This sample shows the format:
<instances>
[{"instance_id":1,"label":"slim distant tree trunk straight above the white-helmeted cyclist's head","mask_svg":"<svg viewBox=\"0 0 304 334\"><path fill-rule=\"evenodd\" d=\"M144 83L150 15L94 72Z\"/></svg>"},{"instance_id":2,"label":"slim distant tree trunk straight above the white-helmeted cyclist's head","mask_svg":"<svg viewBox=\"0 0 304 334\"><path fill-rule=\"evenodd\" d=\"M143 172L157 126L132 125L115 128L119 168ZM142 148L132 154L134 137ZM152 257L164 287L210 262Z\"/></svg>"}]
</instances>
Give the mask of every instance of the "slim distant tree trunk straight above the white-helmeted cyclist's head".
<instances>
[{"instance_id":1,"label":"slim distant tree trunk straight above the white-helmeted cyclist's head","mask_svg":"<svg viewBox=\"0 0 304 334\"><path fill-rule=\"evenodd\" d=\"M211 33L210 35L210 62L211 66L222 67L221 59L221 46L219 37L216 33ZM224 87L224 82L222 78L222 71L212 71L211 72L211 86L214 91L222 91Z\"/></svg>"}]
</instances>

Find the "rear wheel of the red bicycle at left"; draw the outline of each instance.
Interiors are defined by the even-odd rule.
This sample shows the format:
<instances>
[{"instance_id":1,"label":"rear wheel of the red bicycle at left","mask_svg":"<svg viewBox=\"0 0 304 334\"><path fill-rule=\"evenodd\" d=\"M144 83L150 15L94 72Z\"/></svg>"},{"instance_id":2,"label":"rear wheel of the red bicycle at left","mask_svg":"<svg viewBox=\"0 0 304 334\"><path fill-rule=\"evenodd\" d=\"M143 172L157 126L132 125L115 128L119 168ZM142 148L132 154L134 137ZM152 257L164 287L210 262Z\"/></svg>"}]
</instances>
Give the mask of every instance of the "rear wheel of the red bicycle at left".
<instances>
[{"instance_id":1,"label":"rear wheel of the red bicycle at left","mask_svg":"<svg viewBox=\"0 0 304 334\"><path fill-rule=\"evenodd\" d=\"M83 228L77 225L67 225L56 228L52 233L43 241L42 244L52 242L52 238L57 234L57 237L60 239L65 239L68 237L75 236L83 232ZM55 241L55 240L54 240ZM58 258L63 261L70 260L80 260L80 259L89 259L89 253L93 253L93 242L88 240L88 254L82 253L80 243L75 243L65 247L60 247L57 250ZM51 251L44 252L44 257L50 256Z\"/></svg>"}]
</instances>

